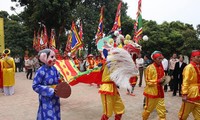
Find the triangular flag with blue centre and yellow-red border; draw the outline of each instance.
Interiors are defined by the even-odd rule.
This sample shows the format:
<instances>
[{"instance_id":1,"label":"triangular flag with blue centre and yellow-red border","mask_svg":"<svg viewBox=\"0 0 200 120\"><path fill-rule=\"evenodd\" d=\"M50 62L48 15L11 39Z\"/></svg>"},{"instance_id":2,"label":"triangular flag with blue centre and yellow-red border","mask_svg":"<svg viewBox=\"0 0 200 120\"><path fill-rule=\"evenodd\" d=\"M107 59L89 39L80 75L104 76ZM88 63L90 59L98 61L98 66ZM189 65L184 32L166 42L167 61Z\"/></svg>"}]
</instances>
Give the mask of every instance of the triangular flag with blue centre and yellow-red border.
<instances>
[{"instance_id":1,"label":"triangular flag with blue centre and yellow-red border","mask_svg":"<svg viewBox=\"0 0 200 120\"><path fill-rule=\"evenodd\" d=\"M72 22L71 54L74 54L81 45L82 45L82 41L76 30L76 25L74 22Z\"/></svg>"}]
</instances>

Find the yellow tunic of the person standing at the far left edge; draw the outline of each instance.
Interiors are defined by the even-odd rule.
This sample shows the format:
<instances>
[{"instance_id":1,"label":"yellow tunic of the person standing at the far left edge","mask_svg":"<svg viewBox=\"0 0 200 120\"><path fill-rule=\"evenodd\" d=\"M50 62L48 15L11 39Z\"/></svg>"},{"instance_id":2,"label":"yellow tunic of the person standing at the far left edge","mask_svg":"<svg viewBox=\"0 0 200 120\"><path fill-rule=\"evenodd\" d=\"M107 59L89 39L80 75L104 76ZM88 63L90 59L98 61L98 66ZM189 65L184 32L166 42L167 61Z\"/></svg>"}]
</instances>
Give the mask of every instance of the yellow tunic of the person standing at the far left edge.
<instances>
[{"instance_id":1,"label":"yellow tunic of the person standing at the far left edge","mask_svg":"<svg viewBox=\"0 0 200 120\"><path fill-rule=\"evenodd\" d=\"M3 86L10 87L15 84L15 62L11 57L2 59Z\"/></svg>"}]
</instances>

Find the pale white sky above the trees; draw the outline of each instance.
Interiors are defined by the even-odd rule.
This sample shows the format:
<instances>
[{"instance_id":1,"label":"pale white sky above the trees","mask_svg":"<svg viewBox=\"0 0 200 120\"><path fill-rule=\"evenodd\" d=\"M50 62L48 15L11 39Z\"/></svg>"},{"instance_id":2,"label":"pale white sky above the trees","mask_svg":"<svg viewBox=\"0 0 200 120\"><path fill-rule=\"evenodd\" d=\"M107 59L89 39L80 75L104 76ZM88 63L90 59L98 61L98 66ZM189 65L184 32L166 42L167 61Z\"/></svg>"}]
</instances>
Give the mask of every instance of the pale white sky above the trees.
<instances>
[{"instance_id":1,"label":"pale white sky above the trees","mask_svg":"<svg viewBox=\"0 0 200 120\"><path fill-rule=\"evenodd\" d=\"M123 0L128 3L127 14L136 18L138 0ZM164 21L181 21L193 24L194 28L200 24L200 0L142 0L142 17L146 20L155 20L158 24ZM15 6L11 0L0 0L0 10L15 14L10 10ZM116 6L117 7L117 6ZM19 13L23 9L17 8Z\"/></svg>"}]
</instances>

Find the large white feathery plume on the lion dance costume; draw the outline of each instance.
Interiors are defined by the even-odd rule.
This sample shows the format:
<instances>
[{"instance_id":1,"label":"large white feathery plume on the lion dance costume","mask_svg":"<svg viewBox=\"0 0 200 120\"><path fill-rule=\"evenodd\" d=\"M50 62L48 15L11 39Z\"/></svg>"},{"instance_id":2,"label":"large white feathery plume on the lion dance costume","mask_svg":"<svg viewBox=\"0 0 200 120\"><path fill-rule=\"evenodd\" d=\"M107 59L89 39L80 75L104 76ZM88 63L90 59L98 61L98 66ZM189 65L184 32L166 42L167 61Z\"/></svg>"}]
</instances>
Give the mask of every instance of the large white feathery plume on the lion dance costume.
<instances>
[{"instance_id":1,"label":"large white feathery plume on the lion dance costume","mask_svg":"<svg viewBox=\"0 0 200 120\"><path fill-rule=\"evenodd\" d=\"M120 87L130 89L129 79L138 75L138 69L130 54L122 48L113 48L109 51L106 61L111 80Z\"/></svg>"}]
</instances>

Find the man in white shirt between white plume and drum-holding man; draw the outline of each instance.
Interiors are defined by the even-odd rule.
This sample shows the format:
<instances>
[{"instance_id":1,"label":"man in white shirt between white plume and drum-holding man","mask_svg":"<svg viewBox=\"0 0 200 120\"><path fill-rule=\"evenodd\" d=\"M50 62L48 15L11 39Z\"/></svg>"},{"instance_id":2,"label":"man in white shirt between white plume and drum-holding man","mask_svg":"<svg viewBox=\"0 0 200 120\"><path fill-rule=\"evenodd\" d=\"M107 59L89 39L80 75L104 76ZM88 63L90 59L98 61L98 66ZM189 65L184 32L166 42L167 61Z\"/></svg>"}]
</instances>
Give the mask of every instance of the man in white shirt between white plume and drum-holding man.
<instances>
[{"instance_id":1,"label":"man in white shirt between white plume and drum-holding man","mask_svg":"<svg viewBox=\"0 0 200 120\"><path fill-rule=\"evenodd\" d=\"M139 87L142 86L142 78L143 78L143 70L144 70L144 59L142 58L142 55L139 54L138 58L136 59L136 66L139 70L139 75L140 75L140 81L139 81Z\"/></svg>"}]
</instances>

